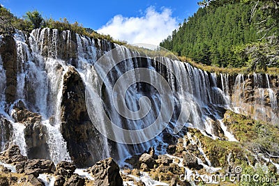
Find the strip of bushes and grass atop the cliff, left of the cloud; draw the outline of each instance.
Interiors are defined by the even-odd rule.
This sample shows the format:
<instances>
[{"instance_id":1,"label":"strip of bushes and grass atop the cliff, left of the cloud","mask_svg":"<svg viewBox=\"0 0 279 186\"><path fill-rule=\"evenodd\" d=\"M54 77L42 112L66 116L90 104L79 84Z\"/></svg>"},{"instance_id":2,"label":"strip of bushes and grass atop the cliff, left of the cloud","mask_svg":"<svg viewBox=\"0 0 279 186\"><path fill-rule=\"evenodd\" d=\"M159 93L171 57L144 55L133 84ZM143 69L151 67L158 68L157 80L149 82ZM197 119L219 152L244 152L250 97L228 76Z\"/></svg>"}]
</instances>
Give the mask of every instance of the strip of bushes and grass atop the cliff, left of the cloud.
<instances>
[{"instance_id":1,"label":"strip of bushes and grass atop the cliff, left of the cloud","mask_svg":"<svg viewBox=\"0 0 279 186\"><path fill-rule=\"evenodd\" d=\"M80 35L88 36L89 38L105 39L119 45L125 45L125 41L114 40L110 35L102 35L89 28L84 28L78 22L70 23L66 18L59 21L52 18L43 18L38 10L27 12L23 18L16 17L6 8L0 6L0 34L14 33L15 29L22 31L32 31L33 29L40 29L48 27L50 29L58 29L59 31L70 30Z\"/></svg>"}]
</instances>

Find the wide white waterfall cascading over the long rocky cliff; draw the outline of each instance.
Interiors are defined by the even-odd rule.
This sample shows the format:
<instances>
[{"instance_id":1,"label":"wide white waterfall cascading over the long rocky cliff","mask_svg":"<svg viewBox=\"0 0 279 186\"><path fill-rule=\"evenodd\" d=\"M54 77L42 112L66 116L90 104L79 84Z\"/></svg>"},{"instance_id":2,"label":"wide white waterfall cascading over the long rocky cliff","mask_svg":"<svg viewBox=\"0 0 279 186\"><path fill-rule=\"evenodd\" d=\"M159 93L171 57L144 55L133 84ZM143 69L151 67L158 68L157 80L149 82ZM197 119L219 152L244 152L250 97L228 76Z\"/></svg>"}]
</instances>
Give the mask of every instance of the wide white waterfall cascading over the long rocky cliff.
<instances>
[{"instance_id":1,"label":"wide white waterfall cascading over the long rocky cliff","mask_svg":"<svg viewBox=\"0 0 279 186\"><path fill-rule=\"evenodd\" d=\"M23 33L17 31L14 39L17 45L16 99L17 102L22 100L29 111L42 116L40 124L46 127L48 153L54 163L61 160L70 161L70 156L73 157L73 154L69 154L70 152L68 153L67 150L68 141L63 138L63 132L65 131L61 131L63 130L61 129L61 123L66 122L61 121L61 115L64 114L61 104L63 104L63 99L69 98L68 95L63 95L65 85L63 79L69 68L74 68L78 72L91 98L97 99L97 95L101 95L103 99L101 102L93 102L93 108L91 108L93 121L89 126L94 128L91 124L98 124L101 126L101 134L112 132L112 136L123 137L123 141L129 141L130 139L137 141L145 139L151 134L125 136L121 132L111 131L106 127L106 116L121 128L142 130L156 121L160 114L163 116L169 114L167 109L160 109L165 104L162 103L163 98L160 96L160 89L164 90L163 85L158 84L158 87L153 87L140 82L142 75L135 69L148 69L149 72L144 78L151 84L158 82L158 78L152 71L158 72L171 89L171 93L165 91L165 97L174 101L174 109L168 123L161 118L162 123L160 125L167 126L162 133L149 141L133 145L115 143L100 134L93 133L92 136L88 137L91 144L86 144L89 146L86 146L86 148L89 148L89 151L91 150L89 153L92 156L95 155L95 161L110 156L123 160L135 153L142 153L151 146L164 146L164 135L168 133L174 134L174 137L179 137L180 134L186 132L182 130L179 133L183 126L195 127L202 130L204 134L215 137L213 125L216 121L220 122L228 139L236 141L233 135L226 131L226 127L222 123L224 111L229 108L241 114L252 113L255 118L261 113L259 119L264 118L264 113L268 111L273 114L275 121L276 119L278 121L276 92L273 91L274 87L269 82L270 77L268 75L265 77L255 74L245 77L239 74L235 79L234 87L232 87L231 81L229 81L231 77L227 74L216 75L194 68L189 63L181 63L164 57L157 59L147 56L142 57L140 52L133 51L129 47L112 44L106 40L80 36L71 31L58 31L48 28L36 29L30 33L28 39ZM111 49L116 47L119 47L117 50L118 56L122 56L125 60L114 65L117 58L107 57L107 63L103 66L96 65L100 56L109 53ZM111 65L113 65L112 68L106 73ZM123 79L126 73L129 73L129 76ZM104 77L104 83L99 90L100 77ZM5 106L7 104L5 98L6 72L3 69L1 57L0 78L0 114L12 123L14 126L13 141L20 146L23 154L28 155L29 147L26 144L24 145L25 126L22 123L15 123L5 109L7 107ZM118 81L119 79L121 81ZM257 99L255 102L249 100L250 97L246 98L246 95L248 95L248 79L252 79L250 81L253 81L256 87L254 91L248 90ZM129 84L129 82L136 83ZM118 91L114 90L116 85L119 86ZM126 92L121 94L123 90L126 90ZM266 95L269 95L271 111L268 107L262 107L267 102ZM248 102L252 102L252 104L248 104ZM257 109L254 107L257 107ZM262 110L260 110L261 107ZM105 114L100 111L102 108L105 110ZM149 112L142 118L137 113L135 117L140 119L133 120L121 116L119 108L126 108L122 110L124 116L127 116L130 111L137 112L140 109L149 110ZM70 113L70 111L68 112ZM1 131L3 133L3 130ZM177 132L178 134L176 134ZM22 144L20 144L20 141ZM99 144L96 144L97 141ZM4 143L4 141L2 142ZM169 143L169 141L167 142ZM1 147L3 147L3 143ZM90 146L96 146L95 151ZM85 147L82 146L82 148ZM156 150L160 151L161 149L156 148Z\"/></svg>"}]
</instances>

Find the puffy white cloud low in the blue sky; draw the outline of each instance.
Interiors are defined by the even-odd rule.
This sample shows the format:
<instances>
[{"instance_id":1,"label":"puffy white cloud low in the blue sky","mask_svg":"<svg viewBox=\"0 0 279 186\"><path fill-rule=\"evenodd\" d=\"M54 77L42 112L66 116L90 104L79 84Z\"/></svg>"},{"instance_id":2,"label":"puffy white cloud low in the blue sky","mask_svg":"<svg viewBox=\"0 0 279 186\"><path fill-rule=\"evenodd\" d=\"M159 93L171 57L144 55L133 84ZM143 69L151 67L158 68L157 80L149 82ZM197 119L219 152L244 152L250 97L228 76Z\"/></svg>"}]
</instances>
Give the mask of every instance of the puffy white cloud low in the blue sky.
<instances>
[{"instance_id":1,"label":"puffy white cloud low in the blue sky","mask_svg":"<svg viewBox=\"0 0 279 186\"><path fill-rule=\"evenodd\" d=\"M153 6L146 9L142 17L123 17L115 15L110 22L98 29L98 33L110 34L115 39L126 40L128 43L148 43L159 45L167 38L178 22L172 17L172 10L163 8L157 12Z\"/></svg>"}]
</instances>

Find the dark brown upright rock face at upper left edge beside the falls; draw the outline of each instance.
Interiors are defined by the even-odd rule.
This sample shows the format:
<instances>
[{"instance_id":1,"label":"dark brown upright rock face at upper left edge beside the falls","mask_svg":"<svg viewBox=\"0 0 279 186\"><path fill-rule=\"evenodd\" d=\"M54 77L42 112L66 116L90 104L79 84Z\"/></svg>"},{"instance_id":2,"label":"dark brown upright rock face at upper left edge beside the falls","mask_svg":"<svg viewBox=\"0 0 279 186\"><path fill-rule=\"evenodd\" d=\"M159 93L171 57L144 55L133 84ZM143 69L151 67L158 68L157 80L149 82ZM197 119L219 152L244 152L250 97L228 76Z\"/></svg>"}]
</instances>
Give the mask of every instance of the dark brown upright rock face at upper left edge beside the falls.
<instances>
[{"instance_id":1,"label":"dark brown upright rock face at upper left edge beside the falls","mask_svg":"<svg viewBox=\"0 0 279 186\"><path fill-rule=\"evenodd\" d=\"M0 45L3 68L6 70L6 102L14 102L17 93L17 47L13 36L4 37Z\"/></svg>"}]
</instances>

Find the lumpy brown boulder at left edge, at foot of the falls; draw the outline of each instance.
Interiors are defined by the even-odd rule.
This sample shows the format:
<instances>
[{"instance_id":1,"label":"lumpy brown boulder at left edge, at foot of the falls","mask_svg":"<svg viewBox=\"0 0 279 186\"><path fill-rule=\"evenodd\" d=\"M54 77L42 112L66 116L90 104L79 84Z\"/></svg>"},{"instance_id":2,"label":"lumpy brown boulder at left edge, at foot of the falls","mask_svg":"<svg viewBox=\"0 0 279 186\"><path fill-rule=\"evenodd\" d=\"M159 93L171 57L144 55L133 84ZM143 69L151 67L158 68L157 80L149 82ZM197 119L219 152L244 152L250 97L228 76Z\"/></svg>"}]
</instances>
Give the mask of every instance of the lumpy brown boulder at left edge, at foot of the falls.
<instances>
[{"instance_id":1,"label":"lumpy brown boulder at left edge, at foot of the falls","mask_svg":"<svg viewBox=\"0 0 279 186\"><path fill-rule=\"evenodd\" d=\"M7 164L26 161L27 157L20 154L20 148L16 145L10 146L8 150L0 153L0 160Z\"/></svg>"}]
</instances>

